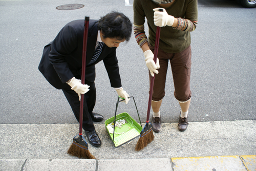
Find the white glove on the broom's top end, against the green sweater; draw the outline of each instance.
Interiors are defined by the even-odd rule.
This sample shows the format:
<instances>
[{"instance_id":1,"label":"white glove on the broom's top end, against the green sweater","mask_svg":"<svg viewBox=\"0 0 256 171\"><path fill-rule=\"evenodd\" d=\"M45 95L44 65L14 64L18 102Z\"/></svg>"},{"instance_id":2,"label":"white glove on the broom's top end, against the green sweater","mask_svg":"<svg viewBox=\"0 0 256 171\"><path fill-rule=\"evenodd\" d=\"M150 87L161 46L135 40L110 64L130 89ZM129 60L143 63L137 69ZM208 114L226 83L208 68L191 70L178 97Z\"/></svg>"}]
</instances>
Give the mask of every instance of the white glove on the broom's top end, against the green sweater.
<instances>
[{"instance_id":1,"label":"white glove on the broom's top end, against the green sweater","mask_svg":"<svg viewBox=\"0 0 256 171\"><path fill-rule=\"evenodd\" d=\"M158 27L164 27L164 26L173 26L174 24L174 16L168 15L166 10L164 8L163 11L158 11L160 8L153 9L154 12L154 23Z\"/></svg>"}]
</instances>

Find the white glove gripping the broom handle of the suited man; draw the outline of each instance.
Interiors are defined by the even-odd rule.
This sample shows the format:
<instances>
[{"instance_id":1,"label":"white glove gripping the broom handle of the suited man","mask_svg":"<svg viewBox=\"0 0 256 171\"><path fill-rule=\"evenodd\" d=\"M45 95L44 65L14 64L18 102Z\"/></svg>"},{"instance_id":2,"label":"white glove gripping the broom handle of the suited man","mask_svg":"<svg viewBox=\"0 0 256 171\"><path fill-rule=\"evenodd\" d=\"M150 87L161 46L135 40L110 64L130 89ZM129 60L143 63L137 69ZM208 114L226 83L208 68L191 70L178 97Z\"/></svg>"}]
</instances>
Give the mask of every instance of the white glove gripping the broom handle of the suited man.
<instances>
[{"instance_id":1,"label":"white glove gripping the broom handle of the suited man","mask_svg":"<svg viewBox=\"0 0 256 171\"><path fill-rule=\"evenodd\" d=\"M81 94L85 94L89 91L89 87L87 84L82 84L80 79L76 79L75 77L71 78L68 82L69 86L72 90L74 90L78 96L79 100L81 100Z\"/></svg>"}]
</instances>

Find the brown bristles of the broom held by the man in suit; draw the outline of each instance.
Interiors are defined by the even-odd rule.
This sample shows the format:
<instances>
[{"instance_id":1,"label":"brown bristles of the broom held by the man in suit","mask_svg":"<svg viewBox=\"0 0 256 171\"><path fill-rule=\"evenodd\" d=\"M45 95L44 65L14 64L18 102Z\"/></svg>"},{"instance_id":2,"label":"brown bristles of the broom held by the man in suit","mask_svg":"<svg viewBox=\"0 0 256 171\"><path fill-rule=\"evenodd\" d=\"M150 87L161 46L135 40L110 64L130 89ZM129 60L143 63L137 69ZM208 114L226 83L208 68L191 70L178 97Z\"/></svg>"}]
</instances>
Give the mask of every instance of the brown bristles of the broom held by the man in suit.
<instances>
[{"instance_id":1,"label":"brown bristles of the broom held by the man in suit","mask_svg":"<svg viewBox=\"0 0 256 171\"><path fill-rule=\"evenodd\" d=\"M70 145L68 154L78 157L78 158L85 158L85 159L96 159L90 152L88 147L80 145L73 141Z\"/></svg>"}]
</instances>

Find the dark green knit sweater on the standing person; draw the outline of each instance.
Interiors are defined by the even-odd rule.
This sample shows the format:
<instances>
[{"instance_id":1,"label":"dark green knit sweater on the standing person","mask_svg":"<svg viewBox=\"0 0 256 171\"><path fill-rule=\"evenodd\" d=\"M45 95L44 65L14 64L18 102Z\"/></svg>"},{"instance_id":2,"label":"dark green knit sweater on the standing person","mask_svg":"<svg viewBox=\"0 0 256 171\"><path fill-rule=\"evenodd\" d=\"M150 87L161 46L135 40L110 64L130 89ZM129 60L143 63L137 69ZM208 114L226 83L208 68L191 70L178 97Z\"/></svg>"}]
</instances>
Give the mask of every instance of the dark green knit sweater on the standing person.
<instances>
[{"instance_id":1,"label":"dark green knit sweater on the standing person","mask_svg":"<svg viewBox=\"0 0 256 171\"><path fill-rule=\"evenodd\" d=\"M152 46L155 46L156 30L157 27L154 24L154 8L162 8L158 4L155 4L151 0L134 0L134 25L142 28L144 26L145 17L147 20L149 36L148 41ZM178 19L179 22L192 22L196 28L198 20L197 0L175 0L175 2L168 8L165 9L169 15L173 15ZM184 18L183 20L181 18ZM179 23L179 24L181 24ZM188 27L187 25L185 26ZM159 48L166 53L179 53L185 50L191 43L190 31L195 29L186 29L165 26L161 28ZM135 30L136 31L136 30ZM143 35L144 30L137 30L135 36ZM144 44L144 42L143 42Z\"/></svg>"}]
</instances>

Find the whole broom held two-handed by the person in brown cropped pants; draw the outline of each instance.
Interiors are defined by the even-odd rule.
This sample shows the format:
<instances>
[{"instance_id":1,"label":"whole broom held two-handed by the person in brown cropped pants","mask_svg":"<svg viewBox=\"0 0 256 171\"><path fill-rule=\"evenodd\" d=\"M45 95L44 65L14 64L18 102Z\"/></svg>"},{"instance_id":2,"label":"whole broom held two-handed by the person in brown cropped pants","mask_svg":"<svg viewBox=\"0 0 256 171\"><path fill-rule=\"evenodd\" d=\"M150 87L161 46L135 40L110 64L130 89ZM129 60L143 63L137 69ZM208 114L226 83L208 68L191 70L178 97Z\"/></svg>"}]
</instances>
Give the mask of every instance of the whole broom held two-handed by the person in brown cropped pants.
<instances>
[{"instance_id":1,"label":"whole broom held two-handed by the person in brown cropped pants","mask_svg":"<svg viewBox=\"0 0 256 171\"><path fill-rule=\"evenodd\" d=\"M159 11L163 11L163 10L159 9ZM157 27L155 51L154 51L154 61L155 61L155 63L157 61L157 53L158 53L160 31L161 31L161 28ZM150 110L151 110L151 101L152 101L152 95L153 95L154 80L155 80L155 75L154 75L154 77L151 77L151 81L150 81L150 97L148 98L146 124L143 127L143 130L140 132L140 138L139 138L139 140L138 140L138 142L136 144L136 147L135 147L136 151L140 151L141 149L146 147L148 143L151 143L154 140L154 134L153 134L153 131L152 131L152 124L150 123Z\"/></svg>"}]
</instances>

